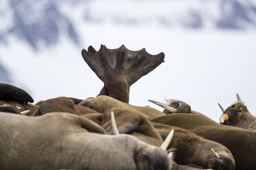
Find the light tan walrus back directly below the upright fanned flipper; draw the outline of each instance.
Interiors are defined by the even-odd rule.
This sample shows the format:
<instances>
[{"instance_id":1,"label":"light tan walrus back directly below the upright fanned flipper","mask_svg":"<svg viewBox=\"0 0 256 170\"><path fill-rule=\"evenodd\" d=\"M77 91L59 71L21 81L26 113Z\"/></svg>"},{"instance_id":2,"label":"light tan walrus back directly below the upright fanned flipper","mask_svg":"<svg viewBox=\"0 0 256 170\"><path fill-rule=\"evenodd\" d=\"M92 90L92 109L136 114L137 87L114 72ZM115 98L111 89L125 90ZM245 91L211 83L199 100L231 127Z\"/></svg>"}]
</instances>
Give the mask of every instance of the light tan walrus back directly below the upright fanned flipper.
<instances>
[{"instance_id":1,"label":"light tan walrus back directly below the upright fanned flipper","mask_svg":"<svg viewBox=\"0 0 256 170\"><path fill-rule=\"evenodd\" d=\"M125 102L118 101L117 99L114 99L113 97L109 97L106 95L100 95L98 97L91 97L85 99L80 104L82 106L87 106L88 108L96 110L100 113L103 113L111 108L126 108L128 110L137 110L148 119L165 115L163 112L160 112L155 108L133 106L131 104L126 104Z\"/></svg>"}]
</instances>

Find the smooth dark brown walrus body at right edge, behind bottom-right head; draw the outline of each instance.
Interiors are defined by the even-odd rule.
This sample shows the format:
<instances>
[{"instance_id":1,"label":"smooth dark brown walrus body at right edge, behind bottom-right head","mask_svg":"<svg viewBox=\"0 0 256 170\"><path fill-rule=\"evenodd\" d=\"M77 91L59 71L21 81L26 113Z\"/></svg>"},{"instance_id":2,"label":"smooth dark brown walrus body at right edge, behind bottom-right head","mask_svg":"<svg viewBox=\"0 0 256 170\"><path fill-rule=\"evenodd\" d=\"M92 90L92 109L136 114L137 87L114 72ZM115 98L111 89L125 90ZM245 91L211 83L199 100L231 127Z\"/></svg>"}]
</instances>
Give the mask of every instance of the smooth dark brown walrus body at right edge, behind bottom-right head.
<instances>
[{"instance_id":1,"label":"smooth dark brown walrus body at right edge, behind bottom-right head","mask_svg":"<svg viewBox=\"0 0 256 170\"><path fill-rule=\"evenodd\" d=\"M221 143L231 151L235 158L235 169L255 169L256 132L242 128L220 125L197 114L168 114L151 119L156 123L182 127L198 136Z\"/></svg>"}]
</instances>

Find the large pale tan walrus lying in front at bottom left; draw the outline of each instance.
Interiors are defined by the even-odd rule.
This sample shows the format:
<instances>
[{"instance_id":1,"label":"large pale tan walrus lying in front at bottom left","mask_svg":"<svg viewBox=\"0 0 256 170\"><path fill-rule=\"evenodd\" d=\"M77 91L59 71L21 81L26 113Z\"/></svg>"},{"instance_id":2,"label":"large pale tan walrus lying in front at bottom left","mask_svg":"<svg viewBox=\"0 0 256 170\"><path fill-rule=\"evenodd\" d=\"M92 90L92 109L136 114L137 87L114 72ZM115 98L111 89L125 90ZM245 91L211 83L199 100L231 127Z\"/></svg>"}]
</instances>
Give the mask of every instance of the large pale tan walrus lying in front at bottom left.
<instances>
[{"instance_id":1,"label":"large pale tan walrus lying in front at bottom left","mask_svg":"<svg viewBox=\"0 0 256 170\"><path fill-rule=\"evenodd\" d=\"M133 136L107 135L84 117L0 112L0 169L169 170L167 152ZM47 134L47 135L45 135Z\"/></svg>"}]
</instances>

